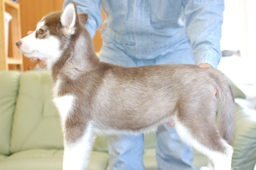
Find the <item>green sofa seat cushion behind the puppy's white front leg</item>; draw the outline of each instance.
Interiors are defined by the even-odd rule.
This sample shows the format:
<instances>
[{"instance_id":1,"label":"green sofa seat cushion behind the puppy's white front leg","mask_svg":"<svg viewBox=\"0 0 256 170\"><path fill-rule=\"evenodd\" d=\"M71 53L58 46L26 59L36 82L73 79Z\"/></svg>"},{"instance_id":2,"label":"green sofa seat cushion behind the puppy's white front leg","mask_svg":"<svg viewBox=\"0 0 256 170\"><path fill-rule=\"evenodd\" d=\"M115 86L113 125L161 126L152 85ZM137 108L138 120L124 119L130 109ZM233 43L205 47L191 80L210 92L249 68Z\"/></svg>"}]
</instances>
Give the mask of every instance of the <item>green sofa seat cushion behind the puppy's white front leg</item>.
<instances>
[{"instance_id":1,"label":"green sofa seat cushion behind the puppy's white front leg","mask_svg":"<svg viewBox=\"0 0 256 170\"><path fill-rule=\"evenodd\" d=\"M62 169L62 149L32 149L13 153L4 160L0 159L0 170L58 170ZM93 151L89 170L105 170L108 153Z\"/></svg>"}]
</instances>

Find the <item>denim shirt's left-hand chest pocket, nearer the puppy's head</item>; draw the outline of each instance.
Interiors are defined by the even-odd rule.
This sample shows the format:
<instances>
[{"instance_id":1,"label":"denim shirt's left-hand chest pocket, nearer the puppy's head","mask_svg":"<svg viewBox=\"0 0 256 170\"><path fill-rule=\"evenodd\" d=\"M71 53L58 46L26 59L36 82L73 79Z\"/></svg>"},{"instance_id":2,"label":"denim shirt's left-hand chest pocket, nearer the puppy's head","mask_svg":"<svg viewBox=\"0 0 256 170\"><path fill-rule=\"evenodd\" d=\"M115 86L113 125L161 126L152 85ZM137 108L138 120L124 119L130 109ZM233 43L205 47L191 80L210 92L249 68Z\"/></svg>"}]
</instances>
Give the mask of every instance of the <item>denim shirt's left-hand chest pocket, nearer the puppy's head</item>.
<instances>
[{"instance_id":1,"label":"denim shirt's left-hand chest pocket, nearer the puppy's head","mask_svg":"<svg viewBox=\"0 0 256 170\"><path fill-rule=\"evenodd\" d=\"M125 15L127 11L127 0L103 0L103 10L112 15Z\"/></svg>"}]
</instances>

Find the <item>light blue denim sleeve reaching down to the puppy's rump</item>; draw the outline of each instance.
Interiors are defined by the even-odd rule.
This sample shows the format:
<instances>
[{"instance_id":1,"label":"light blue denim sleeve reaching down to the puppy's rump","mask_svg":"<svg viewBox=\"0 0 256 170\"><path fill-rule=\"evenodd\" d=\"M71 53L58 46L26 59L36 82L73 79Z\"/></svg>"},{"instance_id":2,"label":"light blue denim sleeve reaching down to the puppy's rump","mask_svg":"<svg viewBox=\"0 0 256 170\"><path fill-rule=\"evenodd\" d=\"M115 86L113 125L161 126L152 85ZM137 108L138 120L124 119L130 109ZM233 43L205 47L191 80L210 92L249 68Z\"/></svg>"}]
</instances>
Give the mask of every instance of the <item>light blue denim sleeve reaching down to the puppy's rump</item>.
<instances>
[{"instance_id":1,"label":"light blue denim sleeve reaching down to the puppy's rump","mask_svg":"<svg viewBox=\"0 0 256 170\"><path fill-rule=\"evenodd\" d=\"M220 39L223 0L185 0L183 7L186 31L196 64L208 63L217 68L221 59Z\"/></svg>"}]
</instances>

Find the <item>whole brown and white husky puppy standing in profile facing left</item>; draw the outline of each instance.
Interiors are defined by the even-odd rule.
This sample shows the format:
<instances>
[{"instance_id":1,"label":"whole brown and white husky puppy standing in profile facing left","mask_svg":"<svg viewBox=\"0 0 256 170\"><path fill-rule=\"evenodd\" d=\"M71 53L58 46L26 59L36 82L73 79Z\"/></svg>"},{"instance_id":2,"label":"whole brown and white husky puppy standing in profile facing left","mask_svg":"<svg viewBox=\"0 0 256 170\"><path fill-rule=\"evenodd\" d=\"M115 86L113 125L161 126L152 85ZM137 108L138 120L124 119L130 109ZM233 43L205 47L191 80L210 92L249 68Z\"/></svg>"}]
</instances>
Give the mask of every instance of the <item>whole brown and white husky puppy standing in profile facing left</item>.
<instances>
[{"instance_id":1,"label":"whole brown and white husky puppy standing in profile facing left","mask_svg":"<svg viewBox=\"0 0 256 170\"><path fill-rule=\"evenodd\" d=\"M136 134L175 123L181 139L209 158L201 169L230 170L235 106L226 76L185 64L129 68L101 62L84 27L87 19L70 3L16 43L27 57L47 59L64 135L63 169L87 167L95 133Z\"/></svg>"}]
</instances>

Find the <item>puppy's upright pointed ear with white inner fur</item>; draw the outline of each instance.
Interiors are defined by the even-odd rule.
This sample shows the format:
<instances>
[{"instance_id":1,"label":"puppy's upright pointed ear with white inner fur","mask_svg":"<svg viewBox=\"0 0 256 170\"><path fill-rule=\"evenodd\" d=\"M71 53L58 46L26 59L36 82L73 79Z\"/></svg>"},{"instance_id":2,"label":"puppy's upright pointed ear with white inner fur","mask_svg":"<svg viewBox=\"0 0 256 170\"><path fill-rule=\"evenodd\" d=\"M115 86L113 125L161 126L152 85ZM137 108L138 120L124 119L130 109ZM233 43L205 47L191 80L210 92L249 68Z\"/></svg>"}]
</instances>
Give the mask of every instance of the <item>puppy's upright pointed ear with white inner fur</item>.
<instances>
[{"instance_id":1,"label":"puppy's upright pointed ear with white inner fur","mask_svg":"<svg viewBox=\"0 0 256 170\"><path fill-rule=\"evenodd\" d=\"M76 32L76 25L78 24L78 14L76 10L76 3L71 2L66 6L60 17L63 27L68 35L73 35Z\"/></svg>"}]
</instances>

